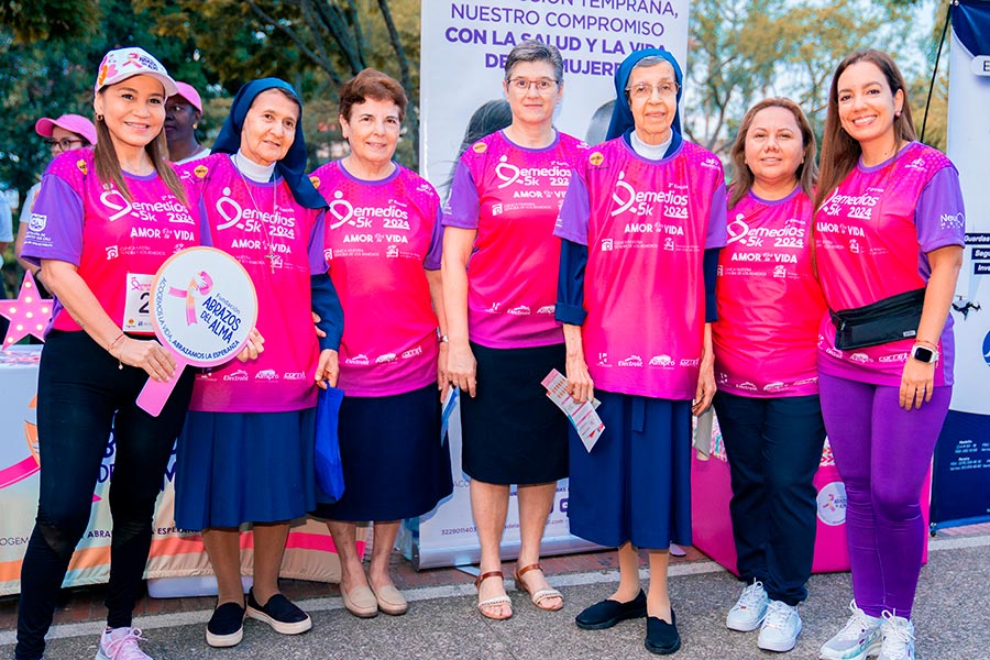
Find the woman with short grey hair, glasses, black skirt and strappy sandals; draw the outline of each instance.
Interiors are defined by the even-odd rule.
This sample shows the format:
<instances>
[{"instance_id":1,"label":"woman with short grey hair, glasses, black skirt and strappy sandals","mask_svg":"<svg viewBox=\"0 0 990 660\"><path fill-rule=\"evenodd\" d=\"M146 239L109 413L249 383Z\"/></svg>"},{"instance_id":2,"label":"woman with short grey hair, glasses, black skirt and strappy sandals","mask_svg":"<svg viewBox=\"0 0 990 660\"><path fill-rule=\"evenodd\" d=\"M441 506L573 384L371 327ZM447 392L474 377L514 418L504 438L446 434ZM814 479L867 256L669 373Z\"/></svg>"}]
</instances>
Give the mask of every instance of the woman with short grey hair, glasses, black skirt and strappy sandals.
<instances>
[{"instance_id":1,"label":"woman with short grey hair, glasses, black skirt and strappy sandals","mask_svg":"<svg viewBox=\"0 0 990 660\"><path fill-rule=\"evenodd\" d=\"M443 217L448 373L461 388L462 468L481 541L477 607L494 619L513 614L499 557L512 484L521 537L516 586L540 609L563 606L539 563L557 482L568 475L568 421L540 385L564 367L552 231L584 151L553 128L562 77L553 46L513 48L503 81L513 122L461 157Z\"/></svg>"}]
</instances>

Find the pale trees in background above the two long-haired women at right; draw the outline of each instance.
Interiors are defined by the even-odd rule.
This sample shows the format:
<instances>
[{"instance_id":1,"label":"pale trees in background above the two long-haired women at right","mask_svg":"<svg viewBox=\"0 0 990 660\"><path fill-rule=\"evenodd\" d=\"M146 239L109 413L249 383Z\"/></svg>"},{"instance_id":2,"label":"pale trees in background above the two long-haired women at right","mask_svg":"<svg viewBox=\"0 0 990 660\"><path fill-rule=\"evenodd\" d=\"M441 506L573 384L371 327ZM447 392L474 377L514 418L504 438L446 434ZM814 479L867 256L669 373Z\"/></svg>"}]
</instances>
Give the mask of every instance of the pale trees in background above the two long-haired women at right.
<instances>
[{"instance_id":1,"label":"pale trees in background above the two long-haired women at right","mask_svg":"<svg viewBox=\"0 0 990 660\"><path fill-rule=\"evenodd\" d=\"M824 124L836 64L856 48L916 46L910 3L696 0L689 42L685 132L727 156L746 110L768 96L799 102Z\"/></svg>"}]
</instances>

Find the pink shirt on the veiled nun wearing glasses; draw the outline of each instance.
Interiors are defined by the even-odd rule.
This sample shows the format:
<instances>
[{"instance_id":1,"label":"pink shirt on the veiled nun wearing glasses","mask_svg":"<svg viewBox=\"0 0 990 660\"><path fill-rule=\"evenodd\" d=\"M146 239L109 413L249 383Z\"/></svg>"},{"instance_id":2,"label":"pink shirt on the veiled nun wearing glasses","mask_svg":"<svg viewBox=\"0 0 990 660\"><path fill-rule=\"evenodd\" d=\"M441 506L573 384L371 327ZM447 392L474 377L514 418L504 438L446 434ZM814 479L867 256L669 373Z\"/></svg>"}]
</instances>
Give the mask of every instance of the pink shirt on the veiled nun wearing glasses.
<instances>
[{"instance_id":1,"label":"pink shirt on the veiled nun wearing glasses","mask_svg":"<svg viewBox=\"0 0 990 660\"><path fill-rule=\"evenodd\" d=\"M704 343L704 251L725 244L725 177L683 142L650 161L623 138L591 150L554 233L587 246L582 326L595 386L692 399Z\"/></svg>"}]
</instances>

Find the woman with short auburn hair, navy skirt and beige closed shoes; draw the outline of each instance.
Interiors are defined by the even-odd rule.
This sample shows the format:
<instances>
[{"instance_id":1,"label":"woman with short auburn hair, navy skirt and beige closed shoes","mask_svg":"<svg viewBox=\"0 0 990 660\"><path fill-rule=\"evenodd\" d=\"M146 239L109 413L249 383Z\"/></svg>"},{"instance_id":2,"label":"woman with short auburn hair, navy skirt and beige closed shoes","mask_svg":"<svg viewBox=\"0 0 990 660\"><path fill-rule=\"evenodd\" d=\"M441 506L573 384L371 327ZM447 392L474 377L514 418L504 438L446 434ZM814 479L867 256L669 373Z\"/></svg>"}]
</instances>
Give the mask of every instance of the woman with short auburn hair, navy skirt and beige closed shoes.
<instances>
[{"instance_id":1,"label":"woman with short auburn hair, navy skirt and beige closed shoes","mask_svg":"<svg viewBox=\"0 0 990 660\"><path fill-rule=\"evenodd\" d=\"M397 80L365 69L340 88L339 120L351 153L310 176L329 205L322 237L330 278L344 309L338 436L344 492L320 503L340 556L348 610L373 617L406 612L388 574L399 524L450 495L450 450L440 438L440 397L449 389L440 295L440 198L395 163L406 111ZM439 369L438 369L439 365ZM367 575L356 522L374 520Z\"/></svg>"}]
</instances>

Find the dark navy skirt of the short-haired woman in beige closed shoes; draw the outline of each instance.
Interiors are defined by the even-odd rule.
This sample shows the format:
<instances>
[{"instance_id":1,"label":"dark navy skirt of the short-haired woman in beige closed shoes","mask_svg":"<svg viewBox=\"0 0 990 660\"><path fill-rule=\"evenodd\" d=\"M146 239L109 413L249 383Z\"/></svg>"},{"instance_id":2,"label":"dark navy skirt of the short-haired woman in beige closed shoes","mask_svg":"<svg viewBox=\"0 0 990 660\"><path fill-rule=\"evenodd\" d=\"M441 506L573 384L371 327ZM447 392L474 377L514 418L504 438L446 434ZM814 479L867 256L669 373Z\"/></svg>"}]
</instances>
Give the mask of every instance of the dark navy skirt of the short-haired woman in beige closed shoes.
<instances>
[{"instance_id":1,"label":"dark navy skirt of the short-haired woman in beige closed shoes","mask_svg":"<svg viewBox=\"0 0 990 660\"><path fill-rule=\"evenodd\" d=\"M400 520L429 513L453 492L450 446L440 442L440 393L346 396L338 422L344 492L314 515L331 520ZM320 497L320 494L317 494Z\"/></svg>"}]
</instances>

